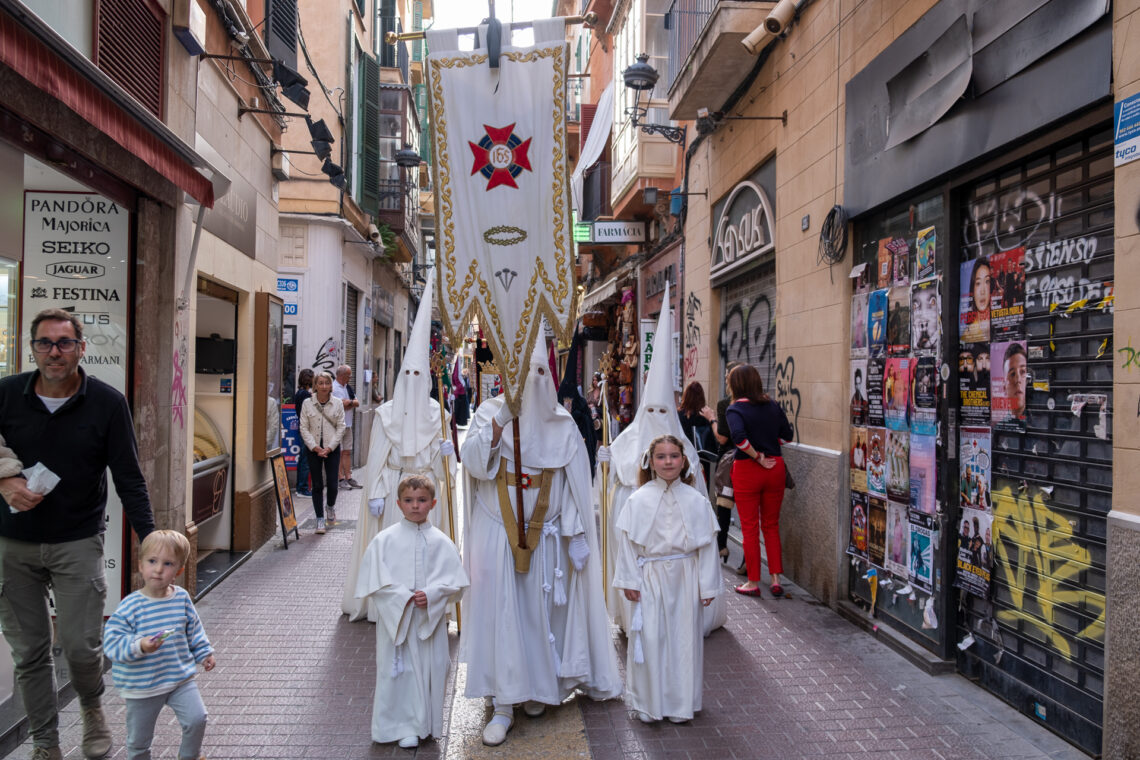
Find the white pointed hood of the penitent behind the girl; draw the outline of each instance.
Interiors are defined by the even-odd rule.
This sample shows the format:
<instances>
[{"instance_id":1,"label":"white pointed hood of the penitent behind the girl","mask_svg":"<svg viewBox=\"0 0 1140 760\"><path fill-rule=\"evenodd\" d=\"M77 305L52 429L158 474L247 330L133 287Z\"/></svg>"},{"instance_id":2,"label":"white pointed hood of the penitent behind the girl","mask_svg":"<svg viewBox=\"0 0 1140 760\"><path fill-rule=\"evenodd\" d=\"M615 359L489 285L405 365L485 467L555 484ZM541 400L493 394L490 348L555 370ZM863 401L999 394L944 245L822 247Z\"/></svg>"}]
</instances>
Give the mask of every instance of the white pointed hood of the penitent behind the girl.
<instances>
[{"instance_id":1,"label":"white pointed hood of the penitent behind the girl","mask_svg":"<svg viewBox=\"0 0 1140 760\"><path fill-rule=\"evenodd\" d=\"M658 435L675 435L685 447L685 457L693 473L700 472L697 447L685 438L677 415L677 402L673 391L673 320L669 318L669 284L665 284L661 296L661 316L657 320L653 335L653 356L649 362L649 375L642 389L641 403L634 420L629 423L610 444L613 455L613 472L625 485L637 487L642 456Z\"/></svg>"}]
</instances>

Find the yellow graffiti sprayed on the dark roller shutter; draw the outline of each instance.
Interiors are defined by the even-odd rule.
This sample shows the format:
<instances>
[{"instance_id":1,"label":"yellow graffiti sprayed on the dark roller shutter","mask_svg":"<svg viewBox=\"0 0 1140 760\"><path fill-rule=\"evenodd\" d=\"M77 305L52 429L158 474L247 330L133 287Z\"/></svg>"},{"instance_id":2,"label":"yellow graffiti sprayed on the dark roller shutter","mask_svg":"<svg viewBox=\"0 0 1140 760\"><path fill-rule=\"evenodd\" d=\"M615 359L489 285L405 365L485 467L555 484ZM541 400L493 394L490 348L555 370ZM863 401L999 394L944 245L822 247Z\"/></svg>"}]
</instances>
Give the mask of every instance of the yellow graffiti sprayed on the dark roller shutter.
<instances>
[{"instance_id":1,"label":"yellow graffiti sprayed on the dark roller shutter","mask_svg":"<svg viewBox=\"0 0 1140 760\"><path fill-rule=\"evenodd\" d=\"M1077 639L1104 644L1105 595L1082 587L1081 573L1092 566L1088 549L1073 536L1073 526L1049 508L1037 489L1015 493L1005 485L993 492L995 579L1009 588L1012 608L996 618L1015 630L1044 640L1073 659L1073 639L1057 627L1058 607L1091 618Z\"/></svg>"}]
</instances>

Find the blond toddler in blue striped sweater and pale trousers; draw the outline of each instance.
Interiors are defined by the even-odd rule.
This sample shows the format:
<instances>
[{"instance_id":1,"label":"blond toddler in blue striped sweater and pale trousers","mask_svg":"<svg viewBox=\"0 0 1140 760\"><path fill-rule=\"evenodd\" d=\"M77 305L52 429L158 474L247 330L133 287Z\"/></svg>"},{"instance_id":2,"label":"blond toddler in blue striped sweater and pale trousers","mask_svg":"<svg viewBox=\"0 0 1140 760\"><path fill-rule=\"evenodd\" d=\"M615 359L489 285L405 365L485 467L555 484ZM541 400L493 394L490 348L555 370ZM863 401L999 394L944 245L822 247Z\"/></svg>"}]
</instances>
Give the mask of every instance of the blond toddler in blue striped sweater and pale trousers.
<instances>
[{"instance_id":1,"label":"blond toddler in blue striped sweater and pale trousers","mask_svg":"<svg viewBox=\"0 0 1140 760\"><path fill-rule=\"evenodd\" d=\"M149 760L154 727L169 704L182 727L180 760L198 760L206 709L194 680L197 663L213 670L213 647L185 588L174 586L190 554L177 531L157 530L139 547L144 586L128 595L104 631L111 679L127 701L127 757Z\"/></svg>"}]
</instances>

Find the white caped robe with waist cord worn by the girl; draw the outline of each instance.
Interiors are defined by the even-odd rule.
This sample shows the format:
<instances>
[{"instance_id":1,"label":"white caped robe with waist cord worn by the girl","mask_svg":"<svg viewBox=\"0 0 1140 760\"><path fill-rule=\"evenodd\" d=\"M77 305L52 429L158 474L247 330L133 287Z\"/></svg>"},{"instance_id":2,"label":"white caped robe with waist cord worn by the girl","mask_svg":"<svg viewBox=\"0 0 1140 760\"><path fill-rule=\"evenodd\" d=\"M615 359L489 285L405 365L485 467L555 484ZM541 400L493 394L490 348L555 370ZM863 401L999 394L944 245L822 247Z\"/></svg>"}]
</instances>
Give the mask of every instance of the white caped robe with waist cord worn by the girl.
<instances>
[{"instance_id":1,"label":"white caped robe with waist cord worn by the girl","mask_svg":"<svg viewBox=\"0 0 1140 760\"><path fill-rule=\"evenodd\" d=\"M723 596L716 533L708 497L679 479L641 487L618 517L613 586L641 591L630 603L626 702L656 720L701 709L701 599Z\"/></svg>"}]
</instances>

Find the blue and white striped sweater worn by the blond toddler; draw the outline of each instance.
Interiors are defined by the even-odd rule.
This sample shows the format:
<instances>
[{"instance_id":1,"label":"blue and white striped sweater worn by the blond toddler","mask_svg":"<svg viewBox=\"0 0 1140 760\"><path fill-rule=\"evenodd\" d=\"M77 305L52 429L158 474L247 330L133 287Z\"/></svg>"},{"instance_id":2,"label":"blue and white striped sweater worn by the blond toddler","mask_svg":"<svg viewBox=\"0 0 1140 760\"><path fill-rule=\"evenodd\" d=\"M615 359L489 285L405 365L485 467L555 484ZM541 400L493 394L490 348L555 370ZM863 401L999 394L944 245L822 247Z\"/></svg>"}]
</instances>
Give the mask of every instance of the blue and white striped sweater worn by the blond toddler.
<instances>
[{"instance_id":1,"label":"blue and white striped sweater worn by the blond toddler","mask_svg":"<svg viewBox=\"0 0 1140 760\"><path fill-rule=\"evenodd\" d=\"M197 663L213 654L210 639L180 586L165 599L133 591L119 603L107 620L103 649L111 657L111 679L125 698L166 694L194 678ZM173 628L174 634L156 652L144 654L142 639Z\"/></svg>"}]
</instances>

